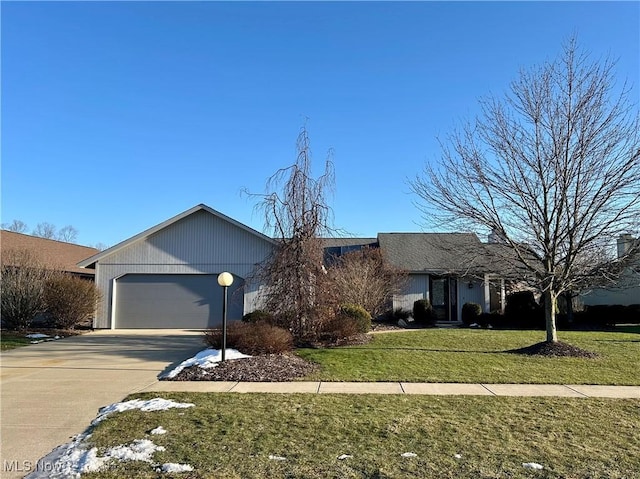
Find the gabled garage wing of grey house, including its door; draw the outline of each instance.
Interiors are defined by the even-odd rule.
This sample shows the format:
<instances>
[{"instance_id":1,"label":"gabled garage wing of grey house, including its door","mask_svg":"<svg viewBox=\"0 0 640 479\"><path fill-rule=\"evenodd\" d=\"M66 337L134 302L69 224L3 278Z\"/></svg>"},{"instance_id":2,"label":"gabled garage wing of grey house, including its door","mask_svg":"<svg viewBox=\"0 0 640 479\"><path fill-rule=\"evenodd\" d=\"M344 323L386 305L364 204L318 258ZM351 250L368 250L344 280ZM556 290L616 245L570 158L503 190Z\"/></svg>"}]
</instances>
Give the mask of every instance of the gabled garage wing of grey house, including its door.
<instances>
[{"instance_id":1,"label":"gabled garage wing of grey house, including its door","mask_svg":"<svg viewBox=\"0 0 640 479\"><path fill-rule=\"evenodd\" d=\"M233 274L229 319L255 309L249 278L275 241L206 205L195 206L79 263L103 295L95 328L205 329L222 321L217 276Z\"/></svg>"}]
</instances>

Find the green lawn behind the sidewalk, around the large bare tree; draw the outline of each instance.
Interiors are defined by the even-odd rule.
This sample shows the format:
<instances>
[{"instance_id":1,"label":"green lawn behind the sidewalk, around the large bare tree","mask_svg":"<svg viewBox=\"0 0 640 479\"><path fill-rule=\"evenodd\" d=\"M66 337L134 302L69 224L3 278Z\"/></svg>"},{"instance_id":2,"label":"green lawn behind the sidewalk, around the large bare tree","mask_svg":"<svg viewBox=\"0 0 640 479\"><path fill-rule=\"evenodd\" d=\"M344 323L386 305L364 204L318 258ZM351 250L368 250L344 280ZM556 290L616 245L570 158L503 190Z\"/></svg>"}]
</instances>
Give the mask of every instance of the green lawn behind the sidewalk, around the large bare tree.
<instances>
[{"instance_id":1,"label":"green lawn behind the sidewalk, around the large bare tree","mask_svg":"<svg viewBox=\"0 0 640 479\"><path fill-rule=\"evenodd\" d=\"M597 359L506 351L544 340L543 331L428 329L374 335L366 345L302 349L322 367L306 380L639 385L640 336L561 331L559 338Z\"/></svg>"}]
</instances>

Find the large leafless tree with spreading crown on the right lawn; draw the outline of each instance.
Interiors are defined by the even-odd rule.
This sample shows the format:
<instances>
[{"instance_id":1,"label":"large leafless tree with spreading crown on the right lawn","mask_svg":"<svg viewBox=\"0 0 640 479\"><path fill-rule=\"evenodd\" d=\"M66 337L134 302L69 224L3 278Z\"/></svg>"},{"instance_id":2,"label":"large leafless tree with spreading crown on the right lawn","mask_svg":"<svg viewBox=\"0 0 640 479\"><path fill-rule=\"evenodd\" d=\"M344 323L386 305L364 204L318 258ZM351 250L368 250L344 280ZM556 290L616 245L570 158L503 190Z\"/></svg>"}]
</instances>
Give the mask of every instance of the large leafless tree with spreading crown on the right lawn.
<instances>
[{"instance_id":1,"label":"large leafless tree with spreading crown on the right lawn","mask_svg":"<svg viewBox=\"0 0 640 479\"><path fill-rule=\"evenodd\" d=\"M595 260L640 225L640 120L626 84L615 91L614 66L570 39L504 98L483 100L480 117L411 182L425 219L503 238L505 258L543 293L548 342L557 341L557 298L615 275L635 253Z\"/></svg>"}]
</instances>

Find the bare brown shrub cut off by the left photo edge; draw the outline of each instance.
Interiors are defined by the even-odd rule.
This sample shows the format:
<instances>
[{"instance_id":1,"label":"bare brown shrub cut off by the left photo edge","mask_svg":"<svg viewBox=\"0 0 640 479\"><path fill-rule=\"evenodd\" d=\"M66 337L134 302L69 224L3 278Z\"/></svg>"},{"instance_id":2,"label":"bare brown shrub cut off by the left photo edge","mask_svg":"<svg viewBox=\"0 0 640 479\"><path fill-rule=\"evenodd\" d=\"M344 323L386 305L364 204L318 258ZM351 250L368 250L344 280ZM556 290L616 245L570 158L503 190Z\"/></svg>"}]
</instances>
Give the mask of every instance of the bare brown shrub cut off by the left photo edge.
<instances>
[{"instance_id":1,"label":"bare brown shrub cut off by the left photo edge","mask_svg":"<svg viewBox=\"0 0 640 479\"><path fill-rule=\"evenodd\" d=\"M2 326L27 329L45 311L45 284L53 272L45 269L33 253L8 250L2 254L0 312Z\"/></svg>"}]
</instances>

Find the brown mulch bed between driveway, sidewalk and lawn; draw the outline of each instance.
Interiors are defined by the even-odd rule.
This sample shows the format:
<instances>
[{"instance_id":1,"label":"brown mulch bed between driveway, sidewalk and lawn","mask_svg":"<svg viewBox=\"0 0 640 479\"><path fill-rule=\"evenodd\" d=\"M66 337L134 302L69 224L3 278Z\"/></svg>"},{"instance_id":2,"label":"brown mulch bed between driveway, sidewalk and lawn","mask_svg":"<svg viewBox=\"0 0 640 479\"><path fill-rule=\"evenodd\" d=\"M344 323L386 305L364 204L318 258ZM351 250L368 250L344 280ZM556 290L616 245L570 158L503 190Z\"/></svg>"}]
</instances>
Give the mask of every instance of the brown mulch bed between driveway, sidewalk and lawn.
<instances>
[{"instance_id":1,"label":"brown mulch bed between driveway, sidewalk and lawn","mask_svg":"<svg viewBox=\"0 0 640 479\"><path fill-rule=\"evenodd\" d=\"M292 381L317 371L319 366L292 354L264 354L230 359L215 368L185 368L169 381Z\"/></svg>"}]
</instances>

